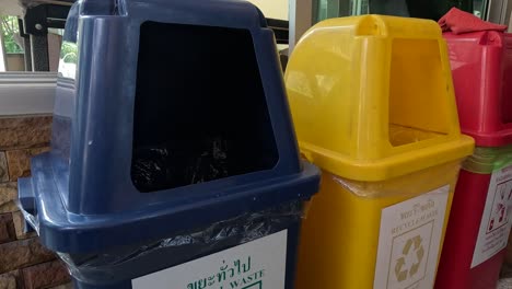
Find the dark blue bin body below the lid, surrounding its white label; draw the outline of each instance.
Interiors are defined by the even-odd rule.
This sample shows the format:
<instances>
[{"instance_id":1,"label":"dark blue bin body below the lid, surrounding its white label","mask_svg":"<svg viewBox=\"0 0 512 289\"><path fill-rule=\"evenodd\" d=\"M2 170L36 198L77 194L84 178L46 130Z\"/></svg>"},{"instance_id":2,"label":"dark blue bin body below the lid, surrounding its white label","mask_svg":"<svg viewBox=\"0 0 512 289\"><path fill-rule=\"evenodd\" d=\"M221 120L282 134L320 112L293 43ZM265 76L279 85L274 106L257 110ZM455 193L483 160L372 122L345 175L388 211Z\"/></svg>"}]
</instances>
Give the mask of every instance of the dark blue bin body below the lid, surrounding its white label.
<instances>
[{"instance_id":1,"label":"dark blue bin body below the lid, surrounding its white label","mask_svg":"<svg viewBox=\"0 0 512 289\"><path fill-rule=\"evenodd\" d=\"M84 287L108 285L116 288L115 285L123 285L125 287L121 288L130 288L128 285L132 278L287 230L287 271L284 276L287 285L284 288L292 289L294 288L299 242L296 236L303 217L302 211L302 201L293 201L256 213L244 213L234 219L210 224L207 228L189 230L166 239L147 242L143 245L117 247L112 251L85 255L62 253L59 255L68 264L73 279Z\"/></svg>"}]
</instances>

